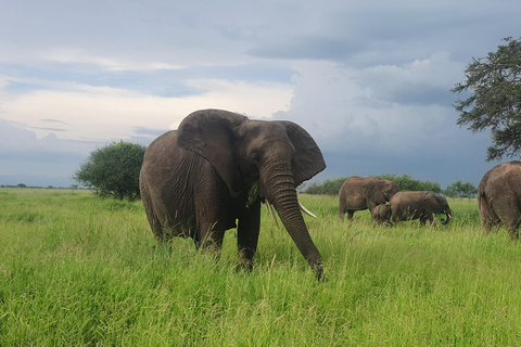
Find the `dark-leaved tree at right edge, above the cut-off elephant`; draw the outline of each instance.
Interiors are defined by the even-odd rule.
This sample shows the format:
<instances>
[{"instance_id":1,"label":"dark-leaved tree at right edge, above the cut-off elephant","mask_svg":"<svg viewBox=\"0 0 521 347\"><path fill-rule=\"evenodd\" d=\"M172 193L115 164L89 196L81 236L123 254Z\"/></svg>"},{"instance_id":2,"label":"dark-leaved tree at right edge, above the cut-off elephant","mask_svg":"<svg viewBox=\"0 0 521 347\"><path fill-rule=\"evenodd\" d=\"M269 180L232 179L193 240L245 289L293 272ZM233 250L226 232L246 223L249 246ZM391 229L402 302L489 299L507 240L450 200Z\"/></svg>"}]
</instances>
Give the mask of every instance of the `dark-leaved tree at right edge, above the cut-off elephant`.
<instances>
[{"instance_id":1,"label":"dark-leaved tree at right edge, above the cut-off elephant","mask_svg":"<svg viewBox=\"0 0 521 347\"><path fill-rule=\"evenodd\" d=\"M511 37L503 41L506 44L496 52L472 59L465 70L466 80L452 90L473 91L454 104L459 113L457 124L472 132L491 129L493 145L487 149L487 160L521 153L521 41Z\"/></svg>"}]
</instances>

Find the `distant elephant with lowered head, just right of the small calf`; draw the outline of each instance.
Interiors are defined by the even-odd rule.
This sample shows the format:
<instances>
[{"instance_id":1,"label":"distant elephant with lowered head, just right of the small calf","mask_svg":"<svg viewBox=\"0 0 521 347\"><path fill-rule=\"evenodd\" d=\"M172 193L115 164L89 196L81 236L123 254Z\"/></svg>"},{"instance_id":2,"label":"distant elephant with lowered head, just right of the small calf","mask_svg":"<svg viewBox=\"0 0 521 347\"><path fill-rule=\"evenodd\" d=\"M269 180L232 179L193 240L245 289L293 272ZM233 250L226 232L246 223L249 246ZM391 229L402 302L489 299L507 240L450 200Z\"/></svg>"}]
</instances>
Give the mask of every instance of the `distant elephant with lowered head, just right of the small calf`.
<instances>
[{"instance_id":1,"label":"distant elephant with lowered head, just right of the small calf","mask_svg":"<svg viewBox=\"0 0 521 347\"><path fill-rule=\"evenodd\" d=\"M442 224L447 224L453 215L445 197L427 191L397 192L389 205L393 222L420 219L421 226L424 226L427 220L432 224L434 215L445 214L447 218L442 219Z\"/></svg>"}]
</instances>

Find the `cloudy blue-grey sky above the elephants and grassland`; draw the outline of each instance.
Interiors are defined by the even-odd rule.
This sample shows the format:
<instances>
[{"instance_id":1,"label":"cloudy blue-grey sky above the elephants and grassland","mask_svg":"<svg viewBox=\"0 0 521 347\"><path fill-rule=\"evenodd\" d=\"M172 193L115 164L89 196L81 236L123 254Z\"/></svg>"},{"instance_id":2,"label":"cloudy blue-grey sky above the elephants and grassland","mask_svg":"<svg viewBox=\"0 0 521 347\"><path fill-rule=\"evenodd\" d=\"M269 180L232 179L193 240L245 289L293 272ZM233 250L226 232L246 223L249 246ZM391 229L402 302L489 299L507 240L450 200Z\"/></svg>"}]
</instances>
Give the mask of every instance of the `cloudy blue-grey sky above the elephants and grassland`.
<instances>
[{"instance_id":1,"label":"cloudy blue-grey sky above the elephants and grassland","mask_svg":"<svg viewBox=\"0 0 521 347\"><path fill-rule=\"evenodd\" d=\"M0 185L69 187L89 153L148 145L202 108L285 119L314 180L410 175L475 187L490 133L450 89L521 36L519 0L0 0ZM508 162L512 158L504 158Z\"/></svg>"}]
</instances>

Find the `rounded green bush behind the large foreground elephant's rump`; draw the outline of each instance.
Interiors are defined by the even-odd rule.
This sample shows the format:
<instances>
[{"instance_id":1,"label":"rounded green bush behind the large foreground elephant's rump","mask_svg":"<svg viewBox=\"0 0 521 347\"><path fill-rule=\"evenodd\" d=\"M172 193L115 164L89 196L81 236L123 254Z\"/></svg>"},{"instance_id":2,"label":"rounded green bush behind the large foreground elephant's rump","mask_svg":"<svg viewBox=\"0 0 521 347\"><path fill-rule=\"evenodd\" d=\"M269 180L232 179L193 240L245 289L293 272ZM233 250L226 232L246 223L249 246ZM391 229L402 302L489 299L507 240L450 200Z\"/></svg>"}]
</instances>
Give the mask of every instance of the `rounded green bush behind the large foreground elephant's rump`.
<instances>
[{"instance_id":1,"label":"rounded green bush behind the large foreground elephant's rump","mask_svg":"<svg viewBox=\"0 0 521 347\"><path fill-rule=\"evenodd\" d=\"M139 171L145 150L140 144L113 142L90 153L74 179L96 188L100 196L136 200L139 197Z\"/></svg>"}]
</instances>

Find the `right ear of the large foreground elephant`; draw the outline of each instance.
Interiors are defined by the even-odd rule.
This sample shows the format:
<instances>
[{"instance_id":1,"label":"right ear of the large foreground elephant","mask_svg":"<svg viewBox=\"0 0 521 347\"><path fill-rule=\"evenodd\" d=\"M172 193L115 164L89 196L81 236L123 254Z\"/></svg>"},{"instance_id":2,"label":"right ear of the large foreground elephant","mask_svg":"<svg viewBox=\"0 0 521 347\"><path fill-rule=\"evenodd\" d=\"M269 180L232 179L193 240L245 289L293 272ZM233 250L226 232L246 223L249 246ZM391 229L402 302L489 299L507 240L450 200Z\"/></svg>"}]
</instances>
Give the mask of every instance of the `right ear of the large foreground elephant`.
<instances>
[{"instance_id":1,"label":"right ear of the large foreground elephant","mask_svg":"<svg viewBox=\"0 0 521 347\"><path fill-rule=\"evenodd\" d=\"M322 171L326 168L326 163L322 152L304 128L288 120L282 120L281 124L285 126L288 137L295 149L291 168L295 187L298 187L302 182Z\"/></svg>"}]
</instances>

